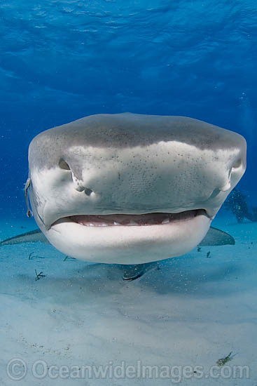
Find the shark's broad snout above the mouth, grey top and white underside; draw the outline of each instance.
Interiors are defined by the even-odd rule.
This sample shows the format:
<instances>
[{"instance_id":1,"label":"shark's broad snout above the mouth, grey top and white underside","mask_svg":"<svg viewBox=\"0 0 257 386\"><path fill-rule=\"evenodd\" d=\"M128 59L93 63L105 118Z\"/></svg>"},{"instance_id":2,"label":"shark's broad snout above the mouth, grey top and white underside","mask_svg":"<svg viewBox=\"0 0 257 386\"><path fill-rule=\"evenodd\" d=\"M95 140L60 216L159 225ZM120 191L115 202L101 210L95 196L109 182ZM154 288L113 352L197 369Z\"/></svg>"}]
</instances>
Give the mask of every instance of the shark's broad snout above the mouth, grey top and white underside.
<instances>
[{"instance_id":1,"label":"shark's broad snout above the mouth, grey top and white underside","mask_svg":"<svg viewBox=\"0 0 257 386\"><path fill-rule=\"evenodd\" d=\"M29 146L35 206L65 215L180 213L213 218L246 168L236 133L186 117L86 117Z\"/></svg>"}]
</instances>

